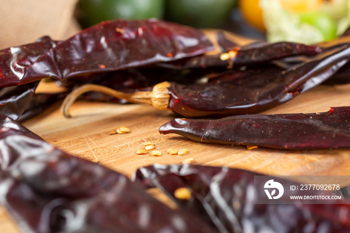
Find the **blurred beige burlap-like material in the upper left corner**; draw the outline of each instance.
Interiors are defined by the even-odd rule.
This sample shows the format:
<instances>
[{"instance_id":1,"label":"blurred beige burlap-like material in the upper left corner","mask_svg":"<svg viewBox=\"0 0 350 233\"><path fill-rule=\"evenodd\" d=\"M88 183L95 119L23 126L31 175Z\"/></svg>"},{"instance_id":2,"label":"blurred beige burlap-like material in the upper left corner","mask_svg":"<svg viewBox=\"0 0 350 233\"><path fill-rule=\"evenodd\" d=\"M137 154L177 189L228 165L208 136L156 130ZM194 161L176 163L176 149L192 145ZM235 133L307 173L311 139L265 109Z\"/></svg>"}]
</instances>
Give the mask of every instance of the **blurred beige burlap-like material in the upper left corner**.
<instances>
[{"instance_id":1,"label":"blurred beige burlap-like material in the upper left corner","mask_svg":"<svg viewBox=\"0 0 350 233\"><path fill-rule=\"evenodd\" d=\"M0 0L0 49L31 43L43 35L60 40L80 30L77 0Z\"/></svg>"}]
</instances>

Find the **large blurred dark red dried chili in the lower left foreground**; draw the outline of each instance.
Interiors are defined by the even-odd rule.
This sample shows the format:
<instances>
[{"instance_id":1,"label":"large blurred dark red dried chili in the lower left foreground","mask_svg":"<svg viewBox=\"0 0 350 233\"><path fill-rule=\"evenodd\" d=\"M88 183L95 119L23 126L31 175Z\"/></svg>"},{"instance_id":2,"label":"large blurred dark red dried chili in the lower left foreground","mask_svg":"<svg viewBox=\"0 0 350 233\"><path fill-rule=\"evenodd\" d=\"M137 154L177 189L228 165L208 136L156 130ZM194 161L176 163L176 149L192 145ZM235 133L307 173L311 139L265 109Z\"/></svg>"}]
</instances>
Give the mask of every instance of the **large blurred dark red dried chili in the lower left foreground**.
<instances>
[{"instance_id":1,"label":"large blurred dark red dried chili in the lower left foreground","mask_svg":"<svg viewBox=\"0 0 350 233\"><path fill-rule=\"evenodd\" d=\"M216 232L0 114L0 202L24 232Z\"/></svg>"}]
</instances>

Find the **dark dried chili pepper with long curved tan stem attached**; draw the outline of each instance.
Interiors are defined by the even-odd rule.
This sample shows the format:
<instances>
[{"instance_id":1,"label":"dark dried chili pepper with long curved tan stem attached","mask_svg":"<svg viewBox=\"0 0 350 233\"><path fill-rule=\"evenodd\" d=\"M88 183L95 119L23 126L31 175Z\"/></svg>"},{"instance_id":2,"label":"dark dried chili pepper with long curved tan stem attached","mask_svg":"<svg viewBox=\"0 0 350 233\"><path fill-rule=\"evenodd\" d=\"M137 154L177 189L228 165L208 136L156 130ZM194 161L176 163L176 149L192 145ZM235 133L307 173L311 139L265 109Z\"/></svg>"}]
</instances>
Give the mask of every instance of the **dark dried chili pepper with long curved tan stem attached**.
<instances>
[{"instance_id":1,"label":"dark dried chili pepper with long curved tan stem attached","mask_svg":"<svg viewBox=\"0 0 350 233\"><path fill-rule=\"evenodd\" d=\"M350 57L350 43L339 38L323 45L322 52L288 69L277 65L231 69L213 75L205 84L161 82L152 91L123 93L96 85L73 90L62 112L87 91L101 91L129 102L170 109L185 117L227 116L260 112L286 102L334 74Z\"/></svg>"}]
</instances>

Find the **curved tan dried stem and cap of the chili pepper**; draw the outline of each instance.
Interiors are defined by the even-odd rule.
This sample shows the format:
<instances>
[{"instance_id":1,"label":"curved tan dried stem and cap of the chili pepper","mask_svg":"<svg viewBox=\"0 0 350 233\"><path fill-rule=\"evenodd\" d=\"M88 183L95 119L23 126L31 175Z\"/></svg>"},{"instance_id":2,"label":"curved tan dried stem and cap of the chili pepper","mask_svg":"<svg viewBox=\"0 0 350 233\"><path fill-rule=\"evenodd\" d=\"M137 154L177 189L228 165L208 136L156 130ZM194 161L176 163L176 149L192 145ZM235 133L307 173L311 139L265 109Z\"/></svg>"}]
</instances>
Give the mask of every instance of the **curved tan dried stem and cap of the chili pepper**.
<instances>
[{"instance_id":1,"label":"curved tan dried stem and cap of the chili pepper","mask_svg":"<svg viewBox=\"0 0 350 233\"><path fill-rule=\"evenodd\" d=\"M122 98L128 102L133 103L142 103L151 105L157 109L168 109L168 103L170 95L168 94L167 87L170 86L170 83L167 81L160 82L153 86L152 91L137 91L133 93L126 93L122 91L117 91L106 86L97 85L97 84L84 84L74 90L72 90L63 100L61 105L61 112L67 118L71 117L69 114L69 108L71 104L83 93L88 91L98 91L108 95L111 95L116 98Z\"/></svg>"}]
</instances>

